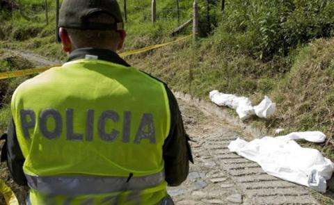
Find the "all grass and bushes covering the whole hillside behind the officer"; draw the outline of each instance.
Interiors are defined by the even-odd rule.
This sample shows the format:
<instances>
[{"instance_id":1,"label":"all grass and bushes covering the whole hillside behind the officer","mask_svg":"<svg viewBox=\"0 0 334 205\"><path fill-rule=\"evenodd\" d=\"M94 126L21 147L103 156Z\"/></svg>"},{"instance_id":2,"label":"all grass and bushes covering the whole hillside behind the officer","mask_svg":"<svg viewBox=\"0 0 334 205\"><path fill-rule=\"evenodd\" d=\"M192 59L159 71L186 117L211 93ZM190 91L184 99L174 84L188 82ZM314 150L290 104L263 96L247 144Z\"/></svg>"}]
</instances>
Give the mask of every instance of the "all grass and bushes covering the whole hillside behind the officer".
<instances>
[{"instance_id":1,"label":"all grass and bushes covering the whole hillside behind the officer","mask_svg":"<svg viewBox=\"0 0 334 205\"><path fill-rule=\"evenodd\" d=\"M48 2L49 24L40 0L15 1L13 9L1 9L0 48L64 60L54 39L54 1ZM324 131L329 137L324 145L304 145L334 159L334 1L226 0L221 13L220 1L211 0L209 15L206 2L199 0L202 38L196 49L184 41L130 56L129 63L163 79L174 90L202 99L211 90L246 95L255 102L269 95L278 104L276 116L250 123L269 132L278 127L287 132ZM180 23L176 1L157 3L158 20L152 24L150 0L128 0L125 50L175 39L170 31L192 16L192 1L180 0ZM189 27L179 36L190 33ZM30 66L17 57L0 57L0 72ZM0 130L8 118L10 93L23 80L0 82Z\"/></svg>"}]
</instances>

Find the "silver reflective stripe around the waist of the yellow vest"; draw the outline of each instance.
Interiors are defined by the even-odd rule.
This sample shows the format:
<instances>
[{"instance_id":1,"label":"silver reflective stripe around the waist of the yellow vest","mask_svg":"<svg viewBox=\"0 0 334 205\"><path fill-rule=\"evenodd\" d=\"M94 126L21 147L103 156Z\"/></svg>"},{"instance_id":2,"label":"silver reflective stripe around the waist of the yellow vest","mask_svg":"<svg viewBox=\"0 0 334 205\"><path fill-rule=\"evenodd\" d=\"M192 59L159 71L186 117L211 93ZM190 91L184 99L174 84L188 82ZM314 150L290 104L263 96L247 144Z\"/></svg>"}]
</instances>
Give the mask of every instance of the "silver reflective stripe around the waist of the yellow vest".
<instances>
[{"instance_id":1,"label":"silver reflective stripe around the waist of the yellow vest","mask_svg":"<svg viewBox=\"0 0 334 205\"><path fill-rule=\"evenodd\" d=\"M145 177L58 176L35 177L26 174L30 188L47 195L94 195L127 190L143 190L159 186L165 180L164 172Z\"/></svg>"}]
</instances>

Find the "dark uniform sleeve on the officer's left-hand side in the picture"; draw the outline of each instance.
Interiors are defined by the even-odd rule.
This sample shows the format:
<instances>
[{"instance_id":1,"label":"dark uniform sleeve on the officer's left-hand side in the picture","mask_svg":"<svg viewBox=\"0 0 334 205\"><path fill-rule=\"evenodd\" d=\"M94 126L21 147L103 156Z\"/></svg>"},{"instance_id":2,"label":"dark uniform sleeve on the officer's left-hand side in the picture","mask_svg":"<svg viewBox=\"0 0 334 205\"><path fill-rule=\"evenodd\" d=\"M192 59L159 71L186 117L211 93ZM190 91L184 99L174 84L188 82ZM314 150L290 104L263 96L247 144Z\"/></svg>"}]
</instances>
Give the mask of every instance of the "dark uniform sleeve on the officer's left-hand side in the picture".
<instances>
[{"instance_id":1,"label":"dark uniform sleeve on the officer's left-hand side in the picture","mask_svg":"<svg viewBox=\"0 0 334 205\"><path fill-rule=\"evenodd\" d=\"M25 158L22 154L19 142L16 136L15 124L13 119L8 125L8 132L1 136L1 139L6 140L1 149L1 161L7 161L10 177L20 186L26 186L26 177L23 172L23 164Z\"/></svg>"}]
</instances>

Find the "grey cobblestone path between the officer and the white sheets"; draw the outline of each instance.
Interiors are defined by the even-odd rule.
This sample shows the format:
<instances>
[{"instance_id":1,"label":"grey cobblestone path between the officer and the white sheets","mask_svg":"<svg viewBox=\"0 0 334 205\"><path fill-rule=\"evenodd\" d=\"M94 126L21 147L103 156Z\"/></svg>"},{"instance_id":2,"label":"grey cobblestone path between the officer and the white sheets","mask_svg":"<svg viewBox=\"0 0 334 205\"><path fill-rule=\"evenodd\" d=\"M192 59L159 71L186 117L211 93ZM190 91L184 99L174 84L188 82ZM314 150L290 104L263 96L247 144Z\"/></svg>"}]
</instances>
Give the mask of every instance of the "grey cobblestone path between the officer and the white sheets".
<instances>
[{"instance_id":1,"label":"grey cobblestone path between the officer and the white sheets","mask_svg":"<svg viewBox=\"0 0 334 205\"><path fill-rule=\"evenodd\" d=\"M168 188L176 204L318 204L308 188L264 173L257 163L230 153L241 129L179 100L195 164L182 186Z\"/></svg>"}]
</instances>

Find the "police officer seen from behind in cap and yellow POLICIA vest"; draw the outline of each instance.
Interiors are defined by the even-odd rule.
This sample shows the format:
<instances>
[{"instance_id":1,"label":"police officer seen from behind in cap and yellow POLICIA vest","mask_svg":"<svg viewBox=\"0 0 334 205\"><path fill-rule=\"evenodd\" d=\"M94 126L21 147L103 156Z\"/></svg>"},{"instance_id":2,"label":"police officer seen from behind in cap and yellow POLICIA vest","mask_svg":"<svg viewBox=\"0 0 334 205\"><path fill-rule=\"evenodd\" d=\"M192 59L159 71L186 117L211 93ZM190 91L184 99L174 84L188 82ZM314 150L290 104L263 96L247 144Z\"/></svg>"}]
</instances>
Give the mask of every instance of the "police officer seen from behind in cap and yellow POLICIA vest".
<instances>
[{"instance_id":1,"label":"police officer seen from behind in cap and yellow POLICIA vest","mask_svg":"<svg viewBox=\"0 0 334 205\"><path fill-rule=\"evenodd\" d=\"M116 0L64 0L69 58L13 94L3 160L31 188L27 204L173 204L192 161L166 84L116 51L125 40Z\"/></svg>"}]
</instances>

